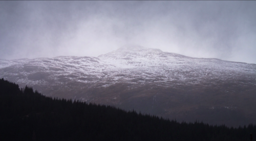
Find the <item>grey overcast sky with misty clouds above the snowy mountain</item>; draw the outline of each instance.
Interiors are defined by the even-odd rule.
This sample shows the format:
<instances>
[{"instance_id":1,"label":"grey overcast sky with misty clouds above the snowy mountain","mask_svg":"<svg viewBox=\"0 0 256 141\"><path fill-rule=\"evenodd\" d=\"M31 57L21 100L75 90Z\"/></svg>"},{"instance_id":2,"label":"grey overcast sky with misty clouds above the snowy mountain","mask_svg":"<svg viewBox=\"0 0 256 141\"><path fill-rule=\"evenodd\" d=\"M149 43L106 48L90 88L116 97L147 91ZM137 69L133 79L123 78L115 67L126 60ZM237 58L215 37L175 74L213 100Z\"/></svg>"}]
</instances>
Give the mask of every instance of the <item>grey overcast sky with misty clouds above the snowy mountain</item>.
<instances>
[{"instance_id":1,"label":"grey overcast sky with misty clouds above the snowy mountain","mask_svg":"<svg viewBox=\"0 0 256 141\"><path fill-rule=\"evenodd\" d=\"M126 44L256 64L256 1L0 1L0 59Z\"/></svg>"}]
</instances>

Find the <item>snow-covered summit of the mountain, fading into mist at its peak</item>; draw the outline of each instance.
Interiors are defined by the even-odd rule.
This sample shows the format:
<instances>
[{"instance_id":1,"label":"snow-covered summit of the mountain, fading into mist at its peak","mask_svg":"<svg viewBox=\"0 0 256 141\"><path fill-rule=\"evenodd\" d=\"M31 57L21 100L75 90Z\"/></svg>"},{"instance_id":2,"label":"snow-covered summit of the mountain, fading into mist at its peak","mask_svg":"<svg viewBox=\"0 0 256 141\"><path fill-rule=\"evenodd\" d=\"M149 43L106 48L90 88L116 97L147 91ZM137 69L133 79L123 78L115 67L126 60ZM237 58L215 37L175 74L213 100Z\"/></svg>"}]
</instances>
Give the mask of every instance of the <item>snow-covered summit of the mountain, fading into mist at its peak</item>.
<instances>
[{"instance_id":1,"label":"snow-covered summit of the mountain, fading into mist at its peak","mask_svg":"<svg viewBox=\"0 0 256 141\"><path fill-rule=\"evenodd\" d=\"M170 61L177 61L177 58L190 57L136 45L124 46L116 51L100 55L98 58L121 68L131 68L168 65Z\"/></svg>"}]
</instances>

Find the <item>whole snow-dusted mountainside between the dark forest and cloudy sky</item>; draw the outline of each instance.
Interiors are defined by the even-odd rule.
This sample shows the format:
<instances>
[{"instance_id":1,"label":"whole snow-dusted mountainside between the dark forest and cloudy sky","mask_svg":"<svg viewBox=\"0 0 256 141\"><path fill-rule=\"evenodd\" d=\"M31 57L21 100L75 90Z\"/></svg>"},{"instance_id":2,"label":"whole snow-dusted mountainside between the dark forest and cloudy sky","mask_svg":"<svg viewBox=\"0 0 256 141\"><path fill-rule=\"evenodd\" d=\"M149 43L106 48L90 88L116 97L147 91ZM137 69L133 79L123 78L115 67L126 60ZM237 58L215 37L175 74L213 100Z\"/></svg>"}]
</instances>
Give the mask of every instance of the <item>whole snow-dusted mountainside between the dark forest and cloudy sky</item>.
<instances>
[{"instance_id":1,"label":"whole snow-dusted mountainside between the dark forest and cloudy sky","mask_svg":"<svg viewBox=\"0 0 256 141\"><path fill-rule=\"evenodd\" d=\"M0 60L0 77L45 95L238 126L256 119L256 64L142 46L98 57Z\"/></svg>"}]
</instances>

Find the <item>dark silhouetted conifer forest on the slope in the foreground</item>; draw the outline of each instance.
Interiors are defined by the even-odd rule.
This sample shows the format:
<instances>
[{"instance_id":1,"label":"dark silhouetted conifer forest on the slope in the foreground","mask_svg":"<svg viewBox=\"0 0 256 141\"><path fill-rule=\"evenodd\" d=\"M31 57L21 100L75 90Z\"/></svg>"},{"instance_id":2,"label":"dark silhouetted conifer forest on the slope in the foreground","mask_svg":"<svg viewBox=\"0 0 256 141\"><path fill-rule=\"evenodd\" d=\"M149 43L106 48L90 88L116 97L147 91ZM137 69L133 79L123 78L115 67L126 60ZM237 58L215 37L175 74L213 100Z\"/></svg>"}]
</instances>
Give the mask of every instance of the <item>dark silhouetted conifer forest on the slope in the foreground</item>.
<instances>
[{"instance_id":1,"label":"dark silhouetted conifer forest on the slope in the foreground","mask_svg":"<svg viewBox=\"0 0 256 141\"><path fill-rule=\"evenodd\" d=\"M178 123L113 106L46 97L4 79L0 127L0 140L250 140L256 135L252 124L230 128Z\"/></svg>"}]
</instances>

